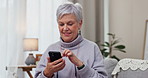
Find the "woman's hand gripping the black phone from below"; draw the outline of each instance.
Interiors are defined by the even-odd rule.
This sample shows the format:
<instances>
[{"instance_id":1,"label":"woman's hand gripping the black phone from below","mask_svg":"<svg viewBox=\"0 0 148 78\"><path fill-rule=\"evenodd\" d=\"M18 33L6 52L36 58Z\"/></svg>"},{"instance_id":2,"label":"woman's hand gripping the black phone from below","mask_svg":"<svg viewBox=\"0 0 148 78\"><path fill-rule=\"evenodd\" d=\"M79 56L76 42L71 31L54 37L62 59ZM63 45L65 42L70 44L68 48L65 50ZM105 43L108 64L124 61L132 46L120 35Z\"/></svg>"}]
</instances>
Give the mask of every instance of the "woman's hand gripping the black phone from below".
<instances>
[{"instance_id":1,"label":"woman's hand gripping the black phone from below","mask_svg":"<svg viewBox=\"0 0 148 78\"><path fill-rule=\"evenodd\" d=\"M65 60L63 60L62 58L54 62L51 62L49 57L47 58L47 60L48 63L44 70L44 75L46 77L51 78L55 72L58 72L65 67Z\"/></svg>"}]
</instances>

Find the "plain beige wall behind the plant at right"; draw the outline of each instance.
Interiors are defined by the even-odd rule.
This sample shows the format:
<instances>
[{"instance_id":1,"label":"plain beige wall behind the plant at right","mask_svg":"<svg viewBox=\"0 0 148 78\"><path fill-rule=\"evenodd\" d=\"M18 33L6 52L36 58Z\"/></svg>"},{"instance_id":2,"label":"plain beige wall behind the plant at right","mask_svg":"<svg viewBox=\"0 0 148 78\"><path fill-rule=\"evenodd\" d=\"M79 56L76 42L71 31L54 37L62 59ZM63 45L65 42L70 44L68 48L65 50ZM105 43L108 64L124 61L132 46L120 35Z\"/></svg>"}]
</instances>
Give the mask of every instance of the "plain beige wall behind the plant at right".
<instances>
[{"instance_id":1,"label":"plain beige wall behind the plant at right","mask_svg":"<svg viewBox=\"0 0 148 78\"><path fill-rule=\"evenodd\" d=\"M148 0L110 0L109 31L121 38L127 53L114 52L120 58L142 58Z\"/></svg>"}]
</instances>

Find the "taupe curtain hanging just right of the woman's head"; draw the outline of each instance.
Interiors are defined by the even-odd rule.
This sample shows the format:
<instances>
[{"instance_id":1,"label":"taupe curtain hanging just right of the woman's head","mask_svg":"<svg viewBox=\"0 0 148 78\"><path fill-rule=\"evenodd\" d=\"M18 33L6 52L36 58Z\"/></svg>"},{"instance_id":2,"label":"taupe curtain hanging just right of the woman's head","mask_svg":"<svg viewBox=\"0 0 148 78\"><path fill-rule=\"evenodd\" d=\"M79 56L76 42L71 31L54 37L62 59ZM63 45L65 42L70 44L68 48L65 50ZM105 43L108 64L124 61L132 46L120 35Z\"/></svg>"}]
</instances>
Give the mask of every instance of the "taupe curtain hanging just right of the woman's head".
<instances>
[{"instance_id":1,"label":"taupe curtain hanging just right of the woman's head","mask_svg":"<svg viewBox=\"0 0 148 78\"><path fill-rule=\"evenodd\" d=\"M83 6L83 26L82 35L91 41L101 41L104 39L104 0L71 0Z\"/></svg>"}]
</instances>

